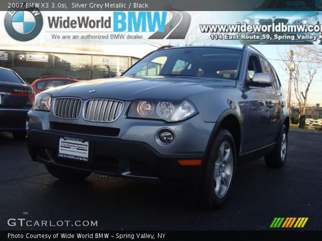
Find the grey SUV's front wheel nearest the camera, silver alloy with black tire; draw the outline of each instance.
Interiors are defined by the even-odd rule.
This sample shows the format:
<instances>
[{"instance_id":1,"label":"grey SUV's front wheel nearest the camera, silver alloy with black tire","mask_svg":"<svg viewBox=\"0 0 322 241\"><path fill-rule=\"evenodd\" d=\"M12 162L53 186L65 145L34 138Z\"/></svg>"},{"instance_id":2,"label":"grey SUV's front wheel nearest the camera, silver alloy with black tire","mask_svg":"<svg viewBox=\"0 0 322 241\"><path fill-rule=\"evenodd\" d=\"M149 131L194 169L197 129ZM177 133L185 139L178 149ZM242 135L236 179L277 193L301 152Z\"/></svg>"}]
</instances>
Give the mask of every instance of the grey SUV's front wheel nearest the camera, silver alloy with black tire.
<instances>
[{"instance_id":1,"label":"grey SUV's front wheel nearest the camera, silver alloy with black tire","mask_svg":"<svg viewBox=\"0 0 322 241\"><path fill-rule=\"evenodd\" d=\"M231 190L235 167L236 149L233 137L229 131L220 129L204 160L199 184L187 193L188 202L207 209L221 206ZM217 185L218 182L221 185Z\"/></svg>"}]
</instances>

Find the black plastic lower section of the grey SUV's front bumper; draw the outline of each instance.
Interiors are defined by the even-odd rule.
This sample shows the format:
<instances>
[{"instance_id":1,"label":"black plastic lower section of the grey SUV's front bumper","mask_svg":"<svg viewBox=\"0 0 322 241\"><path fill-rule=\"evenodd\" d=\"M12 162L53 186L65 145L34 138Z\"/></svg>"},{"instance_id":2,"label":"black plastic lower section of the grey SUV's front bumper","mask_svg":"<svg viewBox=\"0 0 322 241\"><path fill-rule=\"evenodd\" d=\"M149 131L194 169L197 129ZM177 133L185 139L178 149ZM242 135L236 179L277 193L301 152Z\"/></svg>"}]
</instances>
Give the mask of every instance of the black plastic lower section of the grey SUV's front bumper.
<instances>
[{"instance_id":1,"label":"black plastic lower section of the grey SUV's front bumper","mask_svg":"<svg viewBox=\"0 0 322 241\"><path fill-rule=\"evenodd\" d=\"M92 157L88 163L57 157L60 137L84 138L63 132L32 130L27 138L28 151L34 161L59 165L111 176L160 180L169 185L195 185L201 165L181 166L178 160L203 159L196 156L164 156L141 142L92 137ZM45 140L45 141L44 141Z\"/></svg>"}]
</instances>

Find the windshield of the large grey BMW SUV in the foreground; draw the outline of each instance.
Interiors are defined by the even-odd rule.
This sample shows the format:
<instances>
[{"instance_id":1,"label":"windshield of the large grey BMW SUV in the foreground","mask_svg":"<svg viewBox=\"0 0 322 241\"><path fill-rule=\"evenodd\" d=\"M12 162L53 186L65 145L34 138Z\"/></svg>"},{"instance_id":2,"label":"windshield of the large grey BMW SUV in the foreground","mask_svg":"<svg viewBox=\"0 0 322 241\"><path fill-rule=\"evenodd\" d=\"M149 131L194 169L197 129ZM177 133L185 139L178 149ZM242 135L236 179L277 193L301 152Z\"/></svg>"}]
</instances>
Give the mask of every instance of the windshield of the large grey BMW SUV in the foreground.
<instances>
[{"instance_id":1,"label":"windshield of the large grey BMW SUV in the foreground","mask_svg":"<svg viewBox=\"0 0 322 241\"><path fill-rule=\"evenodd\" d=\"M191 47L153 52L123 76L190 76L234 79L239 77L242 50Z\"/></svg>"}]
</instances>

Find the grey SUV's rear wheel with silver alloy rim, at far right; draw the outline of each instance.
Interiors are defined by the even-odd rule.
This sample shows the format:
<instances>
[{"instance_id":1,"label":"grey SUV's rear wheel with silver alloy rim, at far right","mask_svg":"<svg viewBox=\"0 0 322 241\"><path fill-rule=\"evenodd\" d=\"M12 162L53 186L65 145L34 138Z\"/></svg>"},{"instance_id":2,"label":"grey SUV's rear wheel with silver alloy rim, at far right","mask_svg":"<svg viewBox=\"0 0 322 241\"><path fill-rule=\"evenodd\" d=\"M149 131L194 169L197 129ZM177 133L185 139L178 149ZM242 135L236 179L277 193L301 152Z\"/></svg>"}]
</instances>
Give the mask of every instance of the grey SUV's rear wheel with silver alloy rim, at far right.
<instances>
[{"instance_id":1,"label":"grey SUV's rear wheel with silver alloy rim, at far right","mask_svg":"<svg viewBox=\"0 0 322 241\"><path fill-rule=\"evenodd\" d=\"M287 128L283 125L278 136L277 147L273 152L265 156L265 163L268 167L282 167L287 156Z\"/></svg>"}]
</instances>

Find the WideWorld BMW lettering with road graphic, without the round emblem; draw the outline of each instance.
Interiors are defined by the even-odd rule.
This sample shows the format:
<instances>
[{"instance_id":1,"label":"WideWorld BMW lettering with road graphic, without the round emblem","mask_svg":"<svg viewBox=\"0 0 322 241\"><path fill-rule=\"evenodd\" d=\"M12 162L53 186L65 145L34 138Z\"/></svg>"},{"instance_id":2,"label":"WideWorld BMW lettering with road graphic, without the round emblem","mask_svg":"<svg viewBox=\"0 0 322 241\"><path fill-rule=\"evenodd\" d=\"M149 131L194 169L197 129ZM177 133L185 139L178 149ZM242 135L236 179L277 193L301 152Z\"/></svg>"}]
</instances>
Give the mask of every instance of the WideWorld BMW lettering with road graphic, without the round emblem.
<instances>
[{"instance_id":1,"label":"WideWorld BMW lettering with road graphic, without the round emblem","mask_svg":"<svg viewBox=\"0 0 322 241\"><path fill-rule=\"evenodd\" d=\"M112 16L90 18L89 16L48 17L50 29L110 29L112 32L154 32L149 39L184 39L191 17L182 11L172 11L172 19L167 21L168 12L113 12Z\"/></svg>"}]
</instances>

